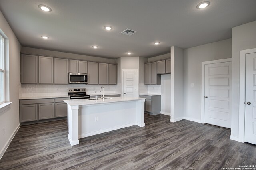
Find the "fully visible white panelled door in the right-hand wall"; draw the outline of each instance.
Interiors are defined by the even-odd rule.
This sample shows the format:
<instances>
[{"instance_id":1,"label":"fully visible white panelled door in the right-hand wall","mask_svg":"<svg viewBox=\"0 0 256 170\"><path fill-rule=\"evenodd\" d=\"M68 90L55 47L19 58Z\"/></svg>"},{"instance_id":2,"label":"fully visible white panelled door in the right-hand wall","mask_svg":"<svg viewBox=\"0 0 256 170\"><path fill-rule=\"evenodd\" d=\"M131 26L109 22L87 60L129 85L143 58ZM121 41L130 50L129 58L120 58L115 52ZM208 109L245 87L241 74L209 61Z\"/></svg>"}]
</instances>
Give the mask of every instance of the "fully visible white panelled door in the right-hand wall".
<instances>
[{"instance_id":1,"label":"fully visible white panelled door in the right-hand wall","mask_svg":"<svg viewBox=\"0 0 256 170\"><path fill-rule=\"evenodd\" d=\"M204 123L231 128L231 64L205 65Z\"/></svg>"}]
</instances>

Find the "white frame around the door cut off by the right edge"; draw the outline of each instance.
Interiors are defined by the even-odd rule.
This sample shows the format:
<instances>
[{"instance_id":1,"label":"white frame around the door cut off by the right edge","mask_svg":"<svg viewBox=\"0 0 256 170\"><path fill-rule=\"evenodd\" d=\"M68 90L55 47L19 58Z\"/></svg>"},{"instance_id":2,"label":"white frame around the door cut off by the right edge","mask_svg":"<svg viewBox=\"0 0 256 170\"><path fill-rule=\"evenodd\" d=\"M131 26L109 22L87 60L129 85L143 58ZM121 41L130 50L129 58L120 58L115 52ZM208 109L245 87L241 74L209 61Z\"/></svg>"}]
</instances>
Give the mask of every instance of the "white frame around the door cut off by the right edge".
<instances>
[{"instance_id":1,"label":"white frame around the door cut off by the right edge","mask_svg":"<svg viewBox=\"0 0 256 170\"><path fill-rule=\"evenodd\" d=\"M240 71L239 71L239 114L238 114L238 137L230 136L230 139L244 142L244 121L245 121L245 69L246 54L256 53L256 48L245 49L240 51ZM232 126L232 125L231 125Z\"/></svg>"}]
</instances>

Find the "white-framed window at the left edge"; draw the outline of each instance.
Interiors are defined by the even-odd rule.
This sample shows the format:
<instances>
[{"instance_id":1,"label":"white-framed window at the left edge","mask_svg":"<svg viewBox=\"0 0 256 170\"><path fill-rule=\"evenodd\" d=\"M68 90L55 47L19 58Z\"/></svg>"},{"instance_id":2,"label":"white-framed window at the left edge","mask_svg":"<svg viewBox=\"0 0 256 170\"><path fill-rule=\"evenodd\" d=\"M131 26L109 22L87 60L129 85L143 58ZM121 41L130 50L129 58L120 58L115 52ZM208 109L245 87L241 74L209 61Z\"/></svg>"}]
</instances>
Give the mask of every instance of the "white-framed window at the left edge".
<instances>
[{"instance_id":1,"label":"white-framed window at the left edge","mask_svg":"<svg viewBox=\"0 0 256 170\"><path fill-rule=\"evenodd\" d=\"M3 94L2 94L2 101L0 101L0 104L5 103L5 69L4 69L4 62L5 62L5 53L4 53L4 37L2 36L2 34L0 34L0 72L3 73ZM0 89L1 90L1 89ZM1 99L1 96L0 96Z\"/></svg>"}]
</instances>

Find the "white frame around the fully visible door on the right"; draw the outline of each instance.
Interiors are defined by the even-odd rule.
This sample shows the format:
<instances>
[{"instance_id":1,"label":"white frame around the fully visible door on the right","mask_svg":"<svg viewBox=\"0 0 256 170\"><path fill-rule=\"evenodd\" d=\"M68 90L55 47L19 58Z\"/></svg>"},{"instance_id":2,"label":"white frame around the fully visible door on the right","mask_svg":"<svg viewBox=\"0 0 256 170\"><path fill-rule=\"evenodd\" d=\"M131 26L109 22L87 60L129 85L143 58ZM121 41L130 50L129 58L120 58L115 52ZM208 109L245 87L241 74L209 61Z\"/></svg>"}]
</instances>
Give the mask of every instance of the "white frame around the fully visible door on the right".
<instances>
[{"instance_id":1,"label":"white frame around the fully visible door on the right","mask_svg":"<svg viewBox=\"0 0 256 170\"><path fill-rule=\"evenodd\" d=\"M216 64L216 63L226 63L232 61L232 58L227 59L218 59L213 61L204 61L202 62L202 85L201 85L201 121L200 123L204 123L204 71L206 64Z\"/></svg>"}]
</instances>

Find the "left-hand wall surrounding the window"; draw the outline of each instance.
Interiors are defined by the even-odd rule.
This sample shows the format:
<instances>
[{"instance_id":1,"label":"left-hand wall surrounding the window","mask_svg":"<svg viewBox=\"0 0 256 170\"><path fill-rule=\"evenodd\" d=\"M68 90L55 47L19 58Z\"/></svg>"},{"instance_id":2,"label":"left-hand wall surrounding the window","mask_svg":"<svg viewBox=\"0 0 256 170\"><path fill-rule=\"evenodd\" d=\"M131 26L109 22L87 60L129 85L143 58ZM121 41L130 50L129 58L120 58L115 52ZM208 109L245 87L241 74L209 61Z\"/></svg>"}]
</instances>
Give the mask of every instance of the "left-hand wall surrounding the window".
<instances>
[{"instance_id":1,"label":"left-hand wall surrounding the window","mask_svg":"<svg viewBox=\"0 0 256 170\"><path fill-rule=\"evenodd\" d=\"M9 85L6 89L10 89L7 101L12 101L10 108L0 113L0 158L8 147L8 142L15 134L20 125L19 121L19 88L20 88L20 43L12 32L8 22L0 11L0 30L7 36L9 49L5 52L9 55L6 60L6 76L9 75ZM3 134L2 129L5 128Z\"/></svg>"}]
</instances>

